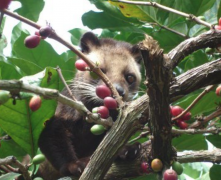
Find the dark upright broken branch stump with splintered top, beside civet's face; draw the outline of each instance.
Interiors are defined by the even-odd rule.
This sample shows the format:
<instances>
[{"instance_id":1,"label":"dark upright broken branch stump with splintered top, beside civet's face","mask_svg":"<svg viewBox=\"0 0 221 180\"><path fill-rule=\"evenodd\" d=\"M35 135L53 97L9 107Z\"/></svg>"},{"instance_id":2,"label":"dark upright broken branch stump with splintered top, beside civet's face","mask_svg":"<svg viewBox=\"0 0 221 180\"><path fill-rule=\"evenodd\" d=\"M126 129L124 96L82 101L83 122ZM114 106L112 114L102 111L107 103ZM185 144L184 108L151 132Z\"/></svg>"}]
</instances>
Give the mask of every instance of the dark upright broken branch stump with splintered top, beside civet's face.
<instances>
[{"instance_id":1,"label":"dark upright broken branch stump with splintered top, beside civet's face","mask_svg":"<svg viewBox=\"0 0 221 180\"><path fill-rule=\"evenodd\" d=\"M149 96L149 128L153 136L151 156L159 158L168 166L173 156L171 145L171 117L169 111L169 85L172 71L166 68L167 59L163 50L152 37L146 36L140 43L146 71L146 86ZM162 149L164 149L162 153Z\"/></svg>"}]
</instances>

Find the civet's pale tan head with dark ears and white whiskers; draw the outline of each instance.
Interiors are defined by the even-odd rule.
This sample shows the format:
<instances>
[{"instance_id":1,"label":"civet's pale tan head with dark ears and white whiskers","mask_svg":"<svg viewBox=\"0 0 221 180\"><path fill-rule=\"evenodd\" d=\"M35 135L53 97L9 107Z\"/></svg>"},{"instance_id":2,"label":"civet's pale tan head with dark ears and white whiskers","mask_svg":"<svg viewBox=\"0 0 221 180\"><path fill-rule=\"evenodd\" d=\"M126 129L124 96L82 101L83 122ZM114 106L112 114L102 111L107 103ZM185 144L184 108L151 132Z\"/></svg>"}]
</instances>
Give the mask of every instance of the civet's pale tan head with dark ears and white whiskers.
<instances>
[{"instance_id":1,"label":"civet's pale tan head with dark ears and white whiskers","mask_svg":"<svg viewBox=\"0 0 221 180\"><path fill-rule=\"evenodd\" d=\"M85 33L80 42L82 52L99 67L113 83L124 101L129 101L137 93L140 82L141 55L136 45L109 38L98 39L93 33ZM101 101L95 88L104 84L93 79L88 71L78 71L73 82L73 91L85 102Z\"/></svg>"}]
</instances>

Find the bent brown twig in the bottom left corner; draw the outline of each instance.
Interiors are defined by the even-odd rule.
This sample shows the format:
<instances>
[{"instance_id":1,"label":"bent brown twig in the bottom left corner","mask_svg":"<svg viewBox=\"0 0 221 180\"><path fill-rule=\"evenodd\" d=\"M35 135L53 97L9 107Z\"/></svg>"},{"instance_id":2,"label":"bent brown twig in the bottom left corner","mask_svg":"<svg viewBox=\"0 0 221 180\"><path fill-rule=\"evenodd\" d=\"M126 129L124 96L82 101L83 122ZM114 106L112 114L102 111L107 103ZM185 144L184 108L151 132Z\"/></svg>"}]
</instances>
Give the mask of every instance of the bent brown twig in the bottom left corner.
<instances>
[{"instance_id":1,"label":"bent brown twig in the bottom left corner","mask_svg":"<svg viewBox=\"0 0 221 180\"><path fill-rule=\"evenodd\" d=\"M27 168L22 163L20 163L14 156L8 156L4 159L0 159L0 165L9 165L9 164L17 166L25 180L31 180Z\"/></svg>"}]
</instances>

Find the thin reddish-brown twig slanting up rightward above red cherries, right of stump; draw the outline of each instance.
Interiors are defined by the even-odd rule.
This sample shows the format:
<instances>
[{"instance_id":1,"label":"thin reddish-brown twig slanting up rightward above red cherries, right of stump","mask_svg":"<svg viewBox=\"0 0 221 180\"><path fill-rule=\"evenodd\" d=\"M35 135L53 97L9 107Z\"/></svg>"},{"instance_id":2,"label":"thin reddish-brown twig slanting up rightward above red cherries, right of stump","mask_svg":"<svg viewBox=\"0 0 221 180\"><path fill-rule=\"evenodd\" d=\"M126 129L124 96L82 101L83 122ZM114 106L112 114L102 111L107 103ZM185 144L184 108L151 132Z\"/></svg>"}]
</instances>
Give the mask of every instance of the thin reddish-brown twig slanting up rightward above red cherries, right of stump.
<instances>
[{"instance_id":1,"label":"thin reddish-brown twig slanting up rightward above red cherries, right of stump","mask_svg":"<svg viewBox=\"0 0 221 180\"><path fill-rule=\"evenodd\" d=\"M205 94L207 94L209 91L211 91L213 89L214 85L211 85L211 86L208 86L202 93L200 93L199 96L197 96L196 99L194 99L194 101L181 113L179 114L178 116L172 118L172 121L175 121L181 117L183 117L190 109L192 109L196 104L197 102L203 98L203 96Z\"/></svg>"}]
</instances>

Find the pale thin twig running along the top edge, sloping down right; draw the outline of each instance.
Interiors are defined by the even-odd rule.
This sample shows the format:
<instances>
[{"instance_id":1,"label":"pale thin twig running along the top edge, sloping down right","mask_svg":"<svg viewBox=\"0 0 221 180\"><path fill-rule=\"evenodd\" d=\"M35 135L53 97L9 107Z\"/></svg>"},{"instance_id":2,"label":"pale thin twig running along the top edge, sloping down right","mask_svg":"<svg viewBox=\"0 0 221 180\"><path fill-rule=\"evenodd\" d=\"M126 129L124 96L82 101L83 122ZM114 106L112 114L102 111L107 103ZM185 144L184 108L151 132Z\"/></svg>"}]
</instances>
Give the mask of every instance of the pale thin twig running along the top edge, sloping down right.
<instances>
[{"instance_id":1,"label":"pale thin twig running along the top edge, sloping down right","mask_svg":"<svg viewBox=\"0 0 221 180\"><path fill-rule=\"evenodd\" d=\"M213 26L209 23L207 23L206 21L203 21L199 18L197 18L196 16L194 16L193 14L187 14L187 13L184 13L184 12L181 12L181 11L177 11L175 9L172 9L172 8L169 8L167 6L163 6L161 4L158 4L156 2L143 2L143 1L126 1L126 0L110 0L112 2L122 2L122 3L125 3L125 4L134 4L134 5L142 5L142 6L152 6L152 7L155 7L155 8L159 8L159 9L162 9L162 10L165 10L165 11L169 11L169 12L172 12L174 14L178 14L180 16L184 16L186 18L189 18L195 22L197 22L198 24L202 24L206 27L209 27L209 28L213 28Z\"/></svg>"}]
</instances>

